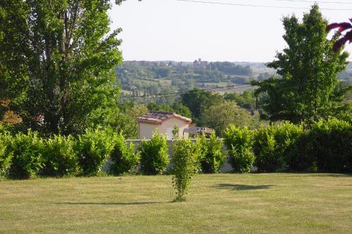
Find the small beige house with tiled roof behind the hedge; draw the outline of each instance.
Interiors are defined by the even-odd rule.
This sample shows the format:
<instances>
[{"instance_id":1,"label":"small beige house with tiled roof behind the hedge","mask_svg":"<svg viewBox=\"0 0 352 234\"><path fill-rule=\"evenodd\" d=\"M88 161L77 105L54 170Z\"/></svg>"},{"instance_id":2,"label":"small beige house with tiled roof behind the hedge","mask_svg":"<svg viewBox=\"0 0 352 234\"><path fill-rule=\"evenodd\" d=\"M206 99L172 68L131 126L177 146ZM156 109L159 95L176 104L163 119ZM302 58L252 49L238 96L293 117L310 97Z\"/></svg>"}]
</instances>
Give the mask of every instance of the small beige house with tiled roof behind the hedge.
<instances>
[{"instance_id":1,"label":"small beige house with tiled roof behind the hedge","mask_svg":"<svg viewBox=\"0 0 352 234\"><path fill-rule=\"evenodd\" d=\"M188 137L189 133L184 130L191 125L191 119L180 116L177 113L165 111L151 111L144 116L138 117L138 135L139 139L151 139L153 132L158 129L158 133L165 135L168 140L172 140L175 125L177 125L179 132L178 137Z\"/></svg>"}]
</instances>

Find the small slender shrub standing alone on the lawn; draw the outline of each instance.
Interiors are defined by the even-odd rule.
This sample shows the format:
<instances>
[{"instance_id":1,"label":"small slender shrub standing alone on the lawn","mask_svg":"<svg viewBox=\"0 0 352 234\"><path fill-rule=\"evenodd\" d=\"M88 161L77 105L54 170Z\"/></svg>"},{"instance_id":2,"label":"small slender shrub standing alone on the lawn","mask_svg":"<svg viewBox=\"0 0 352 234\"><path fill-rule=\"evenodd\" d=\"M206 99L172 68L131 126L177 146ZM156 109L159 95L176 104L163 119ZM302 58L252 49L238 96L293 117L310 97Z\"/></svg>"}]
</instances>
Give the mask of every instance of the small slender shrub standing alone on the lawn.
<instances>
[{"instance_id":1,"label":"small slender shrub standing alone on the lawn","mask_svg":"<svg viewBox=\"0 0 352 234\"><path fill-rule=\"evenodd\" d=\"M172 147L172 186L177 190L175 202L185 200L191 178L199 171L199 158L201 157L201 145L199 141L192 143L191 140L180 139L174 142Z\"/></svg>"}]
</instances>

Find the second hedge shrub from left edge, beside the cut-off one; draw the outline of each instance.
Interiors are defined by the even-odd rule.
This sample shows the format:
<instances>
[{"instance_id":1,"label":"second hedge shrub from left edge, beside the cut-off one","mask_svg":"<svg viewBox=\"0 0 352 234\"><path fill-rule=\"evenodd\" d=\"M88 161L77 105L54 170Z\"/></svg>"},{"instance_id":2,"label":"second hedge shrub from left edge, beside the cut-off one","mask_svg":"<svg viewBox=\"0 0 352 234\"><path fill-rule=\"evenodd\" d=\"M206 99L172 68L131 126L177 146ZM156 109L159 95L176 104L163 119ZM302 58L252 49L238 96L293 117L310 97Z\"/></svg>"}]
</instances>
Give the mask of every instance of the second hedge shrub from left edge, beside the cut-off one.
<instances>
[{"instance_id":1,"label":"second hedge shrub from left edge, beside the cut-off one","mask_svg":"<svg viewBox=\"0 0 352 234\"><path fill-rule=\"evenodd\" d=\"M43 151L44 141L36 132L29 130L27 135L16 134L11 138L11 147L9 147L9 152L13 154L9 176L15 179L37 176L43 166Z\"/></svg>"}]
</instances>

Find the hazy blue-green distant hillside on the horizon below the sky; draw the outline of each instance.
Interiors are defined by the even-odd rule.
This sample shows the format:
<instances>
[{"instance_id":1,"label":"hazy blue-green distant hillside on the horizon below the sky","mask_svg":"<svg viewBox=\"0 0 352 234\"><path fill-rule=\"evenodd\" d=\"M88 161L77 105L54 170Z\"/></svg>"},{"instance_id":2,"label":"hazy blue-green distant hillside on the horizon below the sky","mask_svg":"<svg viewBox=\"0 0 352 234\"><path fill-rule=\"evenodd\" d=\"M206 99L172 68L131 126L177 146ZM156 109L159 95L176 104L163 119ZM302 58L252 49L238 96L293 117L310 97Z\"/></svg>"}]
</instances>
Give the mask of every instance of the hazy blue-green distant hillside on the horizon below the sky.
<instances>
[{"instance_id":1,"label":"hazy blue-green distant hillside on the horizon below the sky","mask_svg":"<svg viewBox=\"0 0 352 234\"><path fill-rule=\"evenodd\" d=\"M122 101L172 104L180 92L194 87L216 92L243 92L250 80L269 78L275 70L264 63L124 61L116 68ZM164 94L158 95L156 94ZM168 95L166 95L168 94ZM162 97L161 97L162 96Z\"/></svg>"}]
</instances>

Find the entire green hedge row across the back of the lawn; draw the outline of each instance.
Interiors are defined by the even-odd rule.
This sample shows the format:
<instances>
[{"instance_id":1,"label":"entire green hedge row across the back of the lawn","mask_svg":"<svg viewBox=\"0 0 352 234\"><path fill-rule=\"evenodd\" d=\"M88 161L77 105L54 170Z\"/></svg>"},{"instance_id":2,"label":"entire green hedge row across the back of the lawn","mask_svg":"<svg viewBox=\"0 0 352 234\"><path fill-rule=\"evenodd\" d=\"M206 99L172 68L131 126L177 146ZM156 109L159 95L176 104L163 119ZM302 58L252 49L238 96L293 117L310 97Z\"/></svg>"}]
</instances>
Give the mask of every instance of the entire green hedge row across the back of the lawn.
<instances>
[{"instance_id":1,"label":"entire green hedge row across the back of the lawn","mask_svg":"<svg viewBox=\"0 0 352 234\"><path fill-rule=\"evenodd\" d=\"M232 125L225 131L224 143L230 164L239 173L253 166L258 172L352 172L352 126L344 121L322 121L308 131L291 123L259 130ZM209 140L200 137L195 144L201 154L195 163L201 171L218 173L225 162L222 141L214 134ZM154 134L134 152L134 145L127 144L122 134L106 130L87 130L77 138L43 139L30 130L11 135L0 126L0 177L94 176L108 158L110 173L115 175L130 171L138 162L144 174L160 174L169 165L168 144L165 137Z\"/></svg>"}]
</instances>

